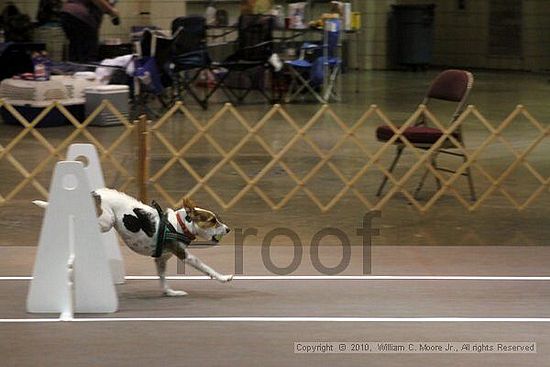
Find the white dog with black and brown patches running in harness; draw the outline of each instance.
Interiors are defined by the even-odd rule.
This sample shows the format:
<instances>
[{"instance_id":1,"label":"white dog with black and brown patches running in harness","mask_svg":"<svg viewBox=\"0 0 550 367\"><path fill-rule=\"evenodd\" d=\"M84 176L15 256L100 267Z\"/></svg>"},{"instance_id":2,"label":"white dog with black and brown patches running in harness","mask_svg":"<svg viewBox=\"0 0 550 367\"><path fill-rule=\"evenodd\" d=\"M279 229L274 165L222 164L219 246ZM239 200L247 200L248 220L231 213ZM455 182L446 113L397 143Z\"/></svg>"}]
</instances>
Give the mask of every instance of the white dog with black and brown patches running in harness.
<instances>
[{"instance_id":1,"label":"white dog with black and brown patches running in harness","mask_svg":"<svg viewBox=\"0 0 550 367\"><path fill-rule=\"evenodd\" d=\"M134 252L145 256L155 255L157 237L161 218L156 209L122 192L112 189L99 189L92 192L95 200L99 227L101 232L115 228L122 240ZM41 200L33 201L39 207L45 208L48 203ZM183 200L181 209L167 209L165 218L173 228L184 234L190 240L199 237L218 242L223 235L229 233L229 227L220 222L218 217L209 210L195 206L190 199ZM166 296L184 296L184 291L171 289L166 283L166 263L172 255L191 265L195 269L220 282L228 282L233 275L222 275L189 253L186 244L168 239L164 243L162 253L155 257L160 283Z\"/></svg>"}]
</instances>

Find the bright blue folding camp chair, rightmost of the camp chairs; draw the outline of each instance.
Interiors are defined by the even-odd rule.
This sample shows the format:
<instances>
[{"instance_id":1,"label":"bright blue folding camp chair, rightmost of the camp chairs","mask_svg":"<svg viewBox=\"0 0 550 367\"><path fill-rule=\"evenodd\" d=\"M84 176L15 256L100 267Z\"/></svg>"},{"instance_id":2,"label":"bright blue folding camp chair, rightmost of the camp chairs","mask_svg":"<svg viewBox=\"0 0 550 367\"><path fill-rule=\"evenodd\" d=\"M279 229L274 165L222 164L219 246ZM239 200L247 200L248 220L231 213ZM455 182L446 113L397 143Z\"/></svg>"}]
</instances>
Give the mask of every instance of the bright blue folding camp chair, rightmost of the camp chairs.
<instances>
[{"instance_id":1,"label":"bright blue folding camp chair, rightmost of the camp chairs","mask_svg":"<svg viewBox=\"0 0 550 367\"><path fill-rule=\"evenodd\" d=\"M292 102L306 91L320 103L339 99L335 86L342 68L338 57L341 26L339 19L325 20L322 45L305 42L300 48L300 57L285 62L292 76L286 102Z\"/></svg>"}]
</instances>

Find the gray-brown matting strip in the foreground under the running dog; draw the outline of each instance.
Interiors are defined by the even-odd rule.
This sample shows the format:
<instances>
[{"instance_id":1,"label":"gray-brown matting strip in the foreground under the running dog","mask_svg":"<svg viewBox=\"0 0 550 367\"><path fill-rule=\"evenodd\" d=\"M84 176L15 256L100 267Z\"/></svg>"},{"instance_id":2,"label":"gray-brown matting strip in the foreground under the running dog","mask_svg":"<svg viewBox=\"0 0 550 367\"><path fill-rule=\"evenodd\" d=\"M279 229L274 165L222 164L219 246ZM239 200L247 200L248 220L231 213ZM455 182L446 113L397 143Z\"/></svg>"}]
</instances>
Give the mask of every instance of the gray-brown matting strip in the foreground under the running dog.
<instances>
[{"instance_id":1,"label":"gray-brown matting strip in the foreground under the running dog","mask_svg":"<svg viewBox=\"0 0 550 367\"><path fill-rule=\"evenodd\" d=\"M292 248L272 253L283 265ZM233 269L232 246L195 250L215 268ZM150 259L123 249L126 270L132 275L153 274ZM309 248L304 249L309 253ZM341 254L335 246L320 251L330 266ZM362 274L361 249L343 274ZM27 275L34 249L0 249L3 271ZM262 266L258 246L243 252L245 274L271 275ZM513 266L503 266L514 259ZM484 246L397 247L375 246L372 271L377 275L511 275L548 276L550 251ZM181 269L180 269L181 270ZM177 274L175 262L169 273ZM195 273L187 272L188 276ZM296 275L318 275L309 257ZM180 276L183 276L180 272ZM2 280L0 324L4 363L9 366L71 364L75 366L176 365L433 365L433 366L544 366L550 345L547 322L523 318L550 318L548 280L247 280L229 284L212 280L171 280L184 298L160 296L156 280L128 280L118 285L119 311L115 314L79 314L87 322L46 323L54 314L24 312L27 280ZM221 317L221 319L216 319ZM250 320L250 317L259 317ZM295 317L298 320L281 318ZM355 321L320 318L368 318ZM102 318L103 321L98 320ZM148 320L144 320L148 319ZM183 318L183 319L182 319ZM275 319L273 319L275 318ZM388 321L387 318L394 318ZM454 321L418 318L453 318ZM484 318L483 321L479 318ZM506 318L507 321L491 321ZM22 320L21 320L22 319ZM271 321L267 320L270 319ZM399 319L404 321L400 322ZM418 319L418 320L416 320ZM27 322L21 322L21 321ZM118 322L116 322L118 320ZM416 321L415 321L416 320ZM3 321L3 320L0 320ZM294 342L535 342L536 354L363 354L297 355ZM29 347L32 346L32 347Z\"/></svg>"}]
</instances>

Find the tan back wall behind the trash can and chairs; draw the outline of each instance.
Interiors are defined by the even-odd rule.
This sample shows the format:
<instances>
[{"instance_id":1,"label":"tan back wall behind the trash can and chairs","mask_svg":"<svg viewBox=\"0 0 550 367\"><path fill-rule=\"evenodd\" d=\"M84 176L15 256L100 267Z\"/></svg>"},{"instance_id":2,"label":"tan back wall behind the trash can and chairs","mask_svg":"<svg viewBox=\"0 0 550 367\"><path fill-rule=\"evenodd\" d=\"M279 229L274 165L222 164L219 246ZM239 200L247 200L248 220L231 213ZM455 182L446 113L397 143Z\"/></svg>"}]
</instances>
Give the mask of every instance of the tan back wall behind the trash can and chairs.
<instances>
[{"instance_id":1,"label":"tan back wall behind the trash can and chairs","mask_svg":"<svg viewBox=\"0 0 550 367\"><path fill-rule=\"evenodd\" d=\"M3 7L6 2L0 0L0 5ZM21 10L35 17L38 0L18 0L16 3ZM361 12L363 20L357 43L360 67L385 69L389 66L388 14L392 4L407 3L436 4L434 64L550 70L549 0L523 0L523 55L516 58L496 57L488 53L489 0L465 0L464 10L457 8L456 0L352 0L354 10ZM221 1L219 7L229 9L232 17L238 15L237 1ZM126 41L132 25L155 24L168 28L172 19L185 15L187 10L200 13L204 5L191 1L186 6L184 0L120 0L118 8L122 14L122 24L114 27L105 19L101 30L104 39L116 37ZM149 12L150 15L140 15L140 12ZM355 47L356 43L352 44Z\"/></svg>"}]
</instances>

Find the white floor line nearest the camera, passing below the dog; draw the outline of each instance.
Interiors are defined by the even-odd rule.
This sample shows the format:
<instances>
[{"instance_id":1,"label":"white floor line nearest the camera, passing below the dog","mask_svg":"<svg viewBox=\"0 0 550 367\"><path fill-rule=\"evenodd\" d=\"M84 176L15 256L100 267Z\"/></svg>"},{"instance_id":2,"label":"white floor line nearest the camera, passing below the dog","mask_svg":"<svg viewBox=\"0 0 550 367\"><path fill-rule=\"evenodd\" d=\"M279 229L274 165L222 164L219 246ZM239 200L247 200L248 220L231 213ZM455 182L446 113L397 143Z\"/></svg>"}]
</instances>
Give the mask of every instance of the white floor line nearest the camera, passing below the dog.
<instances>
[{"instance_id":1,"label":"white floor line nearest the camera, passing below the dog","mask_svg":"<svg viewBox=\"0 0 550 367\"><path fill-rule=\"evenodd\" d=\"M273 317L273 316L212 316L212 317L93 317L63 321L58 318L0 319L0 323L46 322L529 322L548 323L549 317Z\"/></svg>"}]
</instances>

